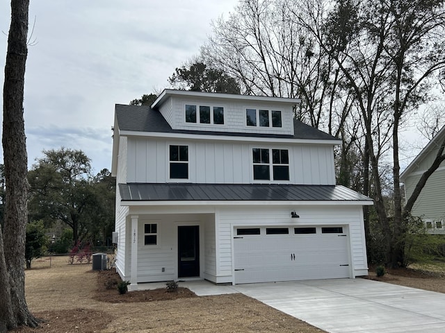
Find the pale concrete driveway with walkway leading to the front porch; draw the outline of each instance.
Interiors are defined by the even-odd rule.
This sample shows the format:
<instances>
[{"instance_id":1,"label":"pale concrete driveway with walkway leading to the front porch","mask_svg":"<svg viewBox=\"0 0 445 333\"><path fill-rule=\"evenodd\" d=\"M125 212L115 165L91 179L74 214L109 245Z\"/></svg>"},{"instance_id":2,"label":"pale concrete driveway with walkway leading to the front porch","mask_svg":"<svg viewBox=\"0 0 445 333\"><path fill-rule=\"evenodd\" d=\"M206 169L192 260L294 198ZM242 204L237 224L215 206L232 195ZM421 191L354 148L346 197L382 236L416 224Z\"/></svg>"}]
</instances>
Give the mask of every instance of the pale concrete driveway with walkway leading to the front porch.
<instances>
[{"instance_id":1,"label":"pale concrete driveway with walkway leading to the front porch","mask_svg":"<svg viewBox=\"0 0 445 333\"><path fill-rule=\"evenodd\" d=\"M364 279L216 286L179 282L198 296L243 293L326 332L445 332L445 294Z\"/></svg>"}]
</instances>

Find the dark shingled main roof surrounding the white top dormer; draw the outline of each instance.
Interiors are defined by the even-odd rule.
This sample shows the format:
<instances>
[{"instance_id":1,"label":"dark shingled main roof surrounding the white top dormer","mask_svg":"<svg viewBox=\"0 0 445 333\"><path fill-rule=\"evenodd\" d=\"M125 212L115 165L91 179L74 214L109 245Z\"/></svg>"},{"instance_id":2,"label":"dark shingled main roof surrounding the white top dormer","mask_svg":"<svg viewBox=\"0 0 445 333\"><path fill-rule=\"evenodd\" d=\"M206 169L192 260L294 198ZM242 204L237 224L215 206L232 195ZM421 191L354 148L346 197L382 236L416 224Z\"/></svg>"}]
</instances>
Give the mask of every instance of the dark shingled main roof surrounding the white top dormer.
<instances>
[{"instance_id":1,"label":"dark shingled main roof surrounding the white top dormer","mask_svg":"<svg viewBox=\"0 0 445 333\"><path fill-rule=\"evenodd\" d=\"M154 133L181 133L193 135L225 135L235 137L275 137L282 139L316 139L316 140L338 140L336 137L308 126L301 121L294 120L294 135L275 135L264 133L235 133L215 132L207 130L173 130L159 111L152 110L148 106L122 105L115 106L118 127L120 130L134 132Z\"/></svg>"}]
</instances>

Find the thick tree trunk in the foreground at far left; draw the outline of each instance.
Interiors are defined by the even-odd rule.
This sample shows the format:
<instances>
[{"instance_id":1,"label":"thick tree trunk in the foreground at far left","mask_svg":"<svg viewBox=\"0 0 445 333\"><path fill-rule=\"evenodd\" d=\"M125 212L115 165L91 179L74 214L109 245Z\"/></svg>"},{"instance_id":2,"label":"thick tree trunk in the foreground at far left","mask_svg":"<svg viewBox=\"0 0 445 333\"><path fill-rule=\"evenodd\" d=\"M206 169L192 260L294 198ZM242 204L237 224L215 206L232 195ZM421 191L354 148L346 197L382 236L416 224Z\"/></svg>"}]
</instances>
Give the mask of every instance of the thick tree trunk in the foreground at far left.
<instances>
[{"instance_id":1,"label":"thick tree trunk in the foreground at far left","mask_svg":"<svg viewBox=\"0 0 445 333\"><path fill-rule=\"evenodd\" d=\"M3 161L6 179L6 207L3 230L3 257L6 280L0 280L0 289L9 289L10 302L0 302L0 311L7 311L8 329L18 325L36 327L25 300L25 238L26 200L28 196L28 159L24 132L23 99L24 74L28 47L29 0L11 1L11 25L6 53L5 83L3 85ZM2 273L3 274L3 273ZM4 274L3 274L4 275ZM3 278L0 275L0 278ZM8 283L9 282L9 283Z\"/></svg>"}]
</instances>

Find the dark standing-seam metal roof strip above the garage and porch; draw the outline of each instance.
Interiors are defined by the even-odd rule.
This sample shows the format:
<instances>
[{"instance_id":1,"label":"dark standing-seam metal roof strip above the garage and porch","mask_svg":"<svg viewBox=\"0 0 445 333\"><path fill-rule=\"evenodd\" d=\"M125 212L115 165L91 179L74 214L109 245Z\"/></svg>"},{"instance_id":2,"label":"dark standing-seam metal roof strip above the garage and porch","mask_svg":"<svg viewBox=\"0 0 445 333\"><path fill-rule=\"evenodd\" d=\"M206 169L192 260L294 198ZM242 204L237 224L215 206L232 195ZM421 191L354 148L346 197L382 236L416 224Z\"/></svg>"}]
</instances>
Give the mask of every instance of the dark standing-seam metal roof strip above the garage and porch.
<instances>
[{"instance_id":1,"label":"dark standing-seam metal roof strip above the garage and porch","mask_svg":"<svg viewBox=\"0 0 445 333\"><path fill-rule=\"evenodd\" d=\"M372 201L341 185L119 184L124 201Z\"/></svg>"}]
</instances>

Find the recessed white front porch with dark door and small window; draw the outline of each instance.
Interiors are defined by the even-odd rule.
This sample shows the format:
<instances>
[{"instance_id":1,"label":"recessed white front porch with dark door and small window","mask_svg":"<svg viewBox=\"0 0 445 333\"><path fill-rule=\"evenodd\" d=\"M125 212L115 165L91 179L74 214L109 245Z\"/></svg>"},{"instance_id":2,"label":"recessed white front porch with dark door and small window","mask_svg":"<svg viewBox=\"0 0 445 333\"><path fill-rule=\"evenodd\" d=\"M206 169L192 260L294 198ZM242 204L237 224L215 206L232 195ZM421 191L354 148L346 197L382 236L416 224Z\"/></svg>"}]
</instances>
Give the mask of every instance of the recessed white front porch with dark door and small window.
<instances>
[{"instance_id":1,"label":"recessed white front porch with dark door and small window","mask_svg":"<svg viewBox=\"0 0 445 333\"><path fill-rule=\"evenodd\" d=\"M117 270L129 289L145 282L216 282L215 214L130 214L124 234Z\"/></svg>"}]
</instances>

